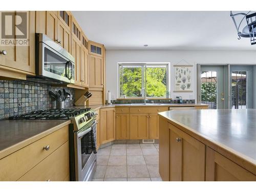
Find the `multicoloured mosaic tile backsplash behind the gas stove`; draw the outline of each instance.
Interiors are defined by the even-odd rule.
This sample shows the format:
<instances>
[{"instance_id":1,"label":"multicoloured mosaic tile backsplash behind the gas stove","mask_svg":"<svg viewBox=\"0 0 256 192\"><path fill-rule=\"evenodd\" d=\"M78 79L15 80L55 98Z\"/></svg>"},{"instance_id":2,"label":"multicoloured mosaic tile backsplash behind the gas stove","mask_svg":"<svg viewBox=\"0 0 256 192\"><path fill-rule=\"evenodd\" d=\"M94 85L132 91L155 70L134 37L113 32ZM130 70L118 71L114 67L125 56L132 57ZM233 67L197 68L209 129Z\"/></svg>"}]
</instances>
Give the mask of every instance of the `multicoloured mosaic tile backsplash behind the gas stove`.
<instances>
[{"instance_id":1,"label":"multicoloured mosaic tile backsplash behind the gas stove","mask_svg":"<svg viewBox=\"0 0 256 192\"><path fill-rule=\"evenodd\" d=\"M56 101L49 91L62 91L62 87L21 80L0 80L0 119L30 113L35 110L56 108ZM65 108L73 106L74 89L64 87L71 97L66 99Z\"/></svg>"}]
</instances>

